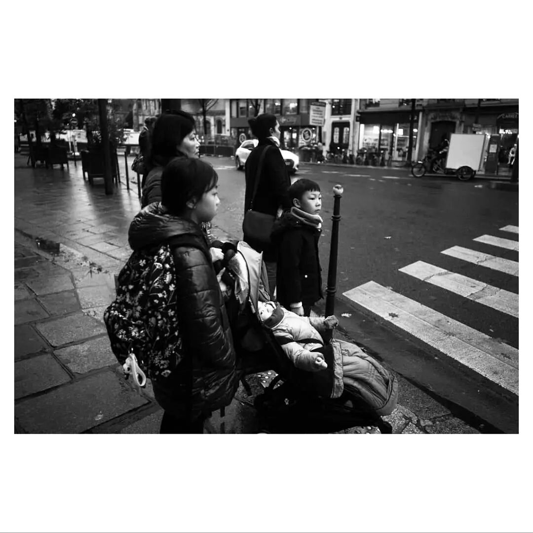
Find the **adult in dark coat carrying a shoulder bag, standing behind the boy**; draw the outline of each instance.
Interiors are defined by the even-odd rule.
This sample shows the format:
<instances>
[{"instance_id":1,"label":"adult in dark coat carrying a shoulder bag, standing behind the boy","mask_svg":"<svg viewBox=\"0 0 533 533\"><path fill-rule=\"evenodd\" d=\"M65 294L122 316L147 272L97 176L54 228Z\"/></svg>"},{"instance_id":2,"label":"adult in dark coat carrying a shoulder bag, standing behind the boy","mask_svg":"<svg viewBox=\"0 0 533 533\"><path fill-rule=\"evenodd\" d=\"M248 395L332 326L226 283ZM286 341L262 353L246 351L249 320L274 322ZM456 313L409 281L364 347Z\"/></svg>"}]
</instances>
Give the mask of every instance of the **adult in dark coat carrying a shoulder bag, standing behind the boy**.
<instances>
[{"instance_id":1,"label":"adult in dark coat carrying a shoulder bag, standing behind the boy","mask_svg":"<svg viewBox=\"0 0 533 533\"><path fill-rule=\"evenodd\" d=\"M270 296L276 288L278 249L270 242L269 229L278 209L290 209L290 177L279 150L279 122L264 113L248 120L259 144L246 159L246 192L244 199L244 240L257 252L263 252L268 272Z\"/></svg>"}]
</instances>

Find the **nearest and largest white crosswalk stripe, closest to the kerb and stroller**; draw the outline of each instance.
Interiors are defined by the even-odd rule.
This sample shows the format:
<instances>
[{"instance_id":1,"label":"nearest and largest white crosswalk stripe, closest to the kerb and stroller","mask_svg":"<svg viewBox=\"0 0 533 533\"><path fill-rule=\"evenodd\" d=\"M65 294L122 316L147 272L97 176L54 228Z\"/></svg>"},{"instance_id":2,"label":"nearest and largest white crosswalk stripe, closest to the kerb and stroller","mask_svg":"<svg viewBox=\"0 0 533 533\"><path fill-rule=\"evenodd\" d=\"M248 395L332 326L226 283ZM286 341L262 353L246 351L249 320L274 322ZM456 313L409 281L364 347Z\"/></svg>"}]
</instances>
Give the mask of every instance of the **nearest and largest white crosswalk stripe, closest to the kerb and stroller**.
<instances>
[{"instance_id":1,"label":"nearest and largest white crosswalk stripe, closest to the kerb and stroller","mask_svg":"<svg viewBox=\"0 0 533 533\"><path fill-rule=\"evenodd\" d=\"M518 350L369 281L343 293L364 308L518 396Z\"/></svg>"}]
</instances>

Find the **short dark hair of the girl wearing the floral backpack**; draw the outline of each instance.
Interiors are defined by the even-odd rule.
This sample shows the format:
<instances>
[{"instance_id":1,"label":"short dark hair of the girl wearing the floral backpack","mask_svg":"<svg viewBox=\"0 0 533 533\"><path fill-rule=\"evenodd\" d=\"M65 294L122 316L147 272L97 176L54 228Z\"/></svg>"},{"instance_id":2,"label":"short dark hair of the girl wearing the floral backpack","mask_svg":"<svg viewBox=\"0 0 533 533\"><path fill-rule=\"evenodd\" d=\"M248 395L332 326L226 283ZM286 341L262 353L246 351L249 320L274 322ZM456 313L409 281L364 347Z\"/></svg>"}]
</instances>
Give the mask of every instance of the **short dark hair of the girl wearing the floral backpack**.
<instances>
[{"instance_id":1,"label":"short dark hair of the girl wearing the floral backpack","mask_svg":"<svg viewBox=\"0 0 533 533\"><path fill-rule=\"evenodd\" d=\"M161 175L161 204L174 215L181 215L192 198L199 199L219 181L215 169L201 159L176 157Z\"/></svg>"}]
</instances>

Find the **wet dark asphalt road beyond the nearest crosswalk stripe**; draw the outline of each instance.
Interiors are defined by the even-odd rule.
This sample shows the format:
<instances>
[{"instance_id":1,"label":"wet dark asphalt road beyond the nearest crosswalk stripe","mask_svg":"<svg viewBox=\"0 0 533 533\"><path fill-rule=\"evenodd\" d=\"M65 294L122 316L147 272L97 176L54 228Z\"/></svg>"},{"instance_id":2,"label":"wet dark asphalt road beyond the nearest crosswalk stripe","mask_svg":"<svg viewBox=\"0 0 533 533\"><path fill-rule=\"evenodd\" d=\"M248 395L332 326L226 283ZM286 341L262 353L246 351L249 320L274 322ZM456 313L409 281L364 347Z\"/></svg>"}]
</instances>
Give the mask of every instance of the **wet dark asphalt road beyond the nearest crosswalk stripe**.
<instances>
[{"instance_id":1,"label":"wet dark asphalt road beyond the nearest crosswalk stripe","mask_svg":"<svg viewBox=\"0 0 533 533\"><path fill-rule=\"evenodd\" d=\"M209 159L209 158L206 158ZM221 205L214 223L241 236L244 172L229 159L210 159L219 174ZM398 269L424 261L518 293L518 277L447 256L462 246L518 261L518 252L474 241L481 235L515 238L499 231L518 226L518 192L489 189L487 180L417 179L404 169L301 165L295 177L322 190L324 232L320 259L327 280L333 185L344 187L337 265L337 296L367 281L391 287L450 318L518 348L518 318L433 286Z\"/></svg>"}]
</instances>

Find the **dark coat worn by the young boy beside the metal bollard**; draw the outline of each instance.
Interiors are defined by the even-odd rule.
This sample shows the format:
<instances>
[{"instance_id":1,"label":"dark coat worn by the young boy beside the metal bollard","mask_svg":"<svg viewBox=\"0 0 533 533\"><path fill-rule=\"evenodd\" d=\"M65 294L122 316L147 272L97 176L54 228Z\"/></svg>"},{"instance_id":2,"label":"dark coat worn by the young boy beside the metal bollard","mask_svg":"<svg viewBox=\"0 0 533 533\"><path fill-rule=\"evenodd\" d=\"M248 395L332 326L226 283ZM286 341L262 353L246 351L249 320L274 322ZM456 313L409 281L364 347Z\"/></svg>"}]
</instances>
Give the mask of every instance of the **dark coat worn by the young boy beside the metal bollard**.
<instances>
[{"instance_id":1,"label":"dark coat worn by the young boy beside the metal bollard","mask_svg":"<svg viewBox=\"0 0 533 533\"><path fill-rule=\"evenodd\" d=\"M292 303L313 305L322 298L322 276L318 255L320 230L286 212L276 221L271 240L279 247L277 266L278 302L289 309Z\"/></svg>"}]
</instances>

